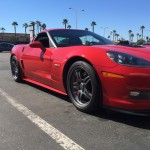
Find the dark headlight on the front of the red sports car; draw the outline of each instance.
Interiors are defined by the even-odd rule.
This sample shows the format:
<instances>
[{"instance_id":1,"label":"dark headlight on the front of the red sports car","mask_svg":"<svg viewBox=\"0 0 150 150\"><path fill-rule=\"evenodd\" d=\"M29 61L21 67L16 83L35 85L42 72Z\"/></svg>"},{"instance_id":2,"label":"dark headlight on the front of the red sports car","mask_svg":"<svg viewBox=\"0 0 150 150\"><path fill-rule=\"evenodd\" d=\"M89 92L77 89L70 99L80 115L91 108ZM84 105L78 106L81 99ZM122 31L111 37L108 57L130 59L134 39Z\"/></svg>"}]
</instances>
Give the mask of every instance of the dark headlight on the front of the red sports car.
<instances>
[{"instance_id":1,"label":"dark headlight on the front of the red sports car","mask_svg":"<svg viewBox=\"0 0 150 150\"><path fill-rule=\"evenodd\" d=\"M149 61L129 54L109 51L107 52L107 55L112 61L121 65L135 66L135 67L150 67Z\"/></svg>"}]
</instances>

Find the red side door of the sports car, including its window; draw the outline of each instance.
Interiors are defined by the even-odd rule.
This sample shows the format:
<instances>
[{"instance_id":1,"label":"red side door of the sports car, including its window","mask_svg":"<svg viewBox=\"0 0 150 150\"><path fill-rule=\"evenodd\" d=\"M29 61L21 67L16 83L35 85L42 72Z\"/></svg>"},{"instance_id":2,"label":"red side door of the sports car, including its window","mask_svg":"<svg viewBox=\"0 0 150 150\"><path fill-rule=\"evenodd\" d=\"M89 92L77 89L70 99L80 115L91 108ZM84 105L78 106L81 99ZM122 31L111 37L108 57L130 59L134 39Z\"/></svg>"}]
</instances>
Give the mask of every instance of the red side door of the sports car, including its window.
<instances>
[{"instance_id":1,"label":"red side door of the sports car, including its window","mask_svg":"<svg viewBox=\"0 0 150 150\"><path fill-rule=\"evenodd\" d=\"M27 78L38 81L42 84L51 85L51 55L53 48L49 46L49 39L46 33L40 33L34 41L39 41L44 46L24 48L22 61Z\"/></svg>"}]
</instances>

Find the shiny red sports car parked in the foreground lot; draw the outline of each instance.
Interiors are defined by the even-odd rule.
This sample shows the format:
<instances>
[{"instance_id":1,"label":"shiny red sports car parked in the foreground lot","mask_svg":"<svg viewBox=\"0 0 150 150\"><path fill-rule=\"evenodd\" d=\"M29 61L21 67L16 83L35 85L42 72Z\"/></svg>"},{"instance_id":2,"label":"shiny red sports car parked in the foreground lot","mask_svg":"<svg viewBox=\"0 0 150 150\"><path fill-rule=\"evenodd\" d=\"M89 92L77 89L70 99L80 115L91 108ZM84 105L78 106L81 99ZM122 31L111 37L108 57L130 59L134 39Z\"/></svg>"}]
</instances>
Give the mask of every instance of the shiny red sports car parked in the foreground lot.
<instances>
[{"instance_id":1,"label":"shiny red sports car parked in the foreground lot","mask_svg":"<svg viewBox=\"0 0 150 150\"><path fill-rule=\"evenodd\" d=\"M81 111L150 111L149 48L114 45L89 31L51 29L14 46L10 63L16 82L67 94Z\"/></svg>"}]
</instances>

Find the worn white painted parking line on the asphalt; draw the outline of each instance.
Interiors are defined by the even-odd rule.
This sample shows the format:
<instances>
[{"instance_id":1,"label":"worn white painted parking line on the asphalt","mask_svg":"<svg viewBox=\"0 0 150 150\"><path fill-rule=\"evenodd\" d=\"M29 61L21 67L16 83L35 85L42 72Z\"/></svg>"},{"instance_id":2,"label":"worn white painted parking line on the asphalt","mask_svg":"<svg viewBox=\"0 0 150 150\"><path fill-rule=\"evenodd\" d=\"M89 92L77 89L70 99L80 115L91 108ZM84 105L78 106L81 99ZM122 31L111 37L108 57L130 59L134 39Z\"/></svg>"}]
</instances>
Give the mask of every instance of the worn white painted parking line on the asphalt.
<instances>
[{"instance_id":1,"label":"worn white painted parking line on the asphalt","mask_svg":"<svg viewBox=\"0 0 150 150\"><path fill-rule=\"evenodd\" d=\"M55 127L47 123L45 120L37 116L27 107L18 103L1 88L0 95L3 96L3 98L5 98L5 100L7 100L7 102L9 102L18 111L24 114L30 121L37 125L41 130L48 134L52 139L54 139L54 141L57 142L60 146L62 146L65 150L84 150L84 148L72 141L70 138L68 138Z\"/></svg>"}]
</instances>

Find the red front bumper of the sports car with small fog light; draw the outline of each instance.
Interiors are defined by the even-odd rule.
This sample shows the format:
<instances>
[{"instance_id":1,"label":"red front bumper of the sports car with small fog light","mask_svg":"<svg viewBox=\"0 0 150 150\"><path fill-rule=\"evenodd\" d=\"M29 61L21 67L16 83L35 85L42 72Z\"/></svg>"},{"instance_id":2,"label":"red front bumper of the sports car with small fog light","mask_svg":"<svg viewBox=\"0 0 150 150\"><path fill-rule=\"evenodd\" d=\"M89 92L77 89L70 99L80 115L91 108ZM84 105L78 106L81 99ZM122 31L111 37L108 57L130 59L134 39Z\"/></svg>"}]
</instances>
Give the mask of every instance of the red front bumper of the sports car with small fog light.
<instances>
[{"instance_id":1,"label":"red front bumper of the sports car with small fog light","mask_svg":"<svg viewBox=\"0 0 150 150\"><path fill-rule=\"evenodd\" d=\"M150 68L98 67L103 105L128 111L150 111ZM104 76L103 72L117 76ZM139 94L138 94L139 93Z\"/></svg>"}]
</instances>

